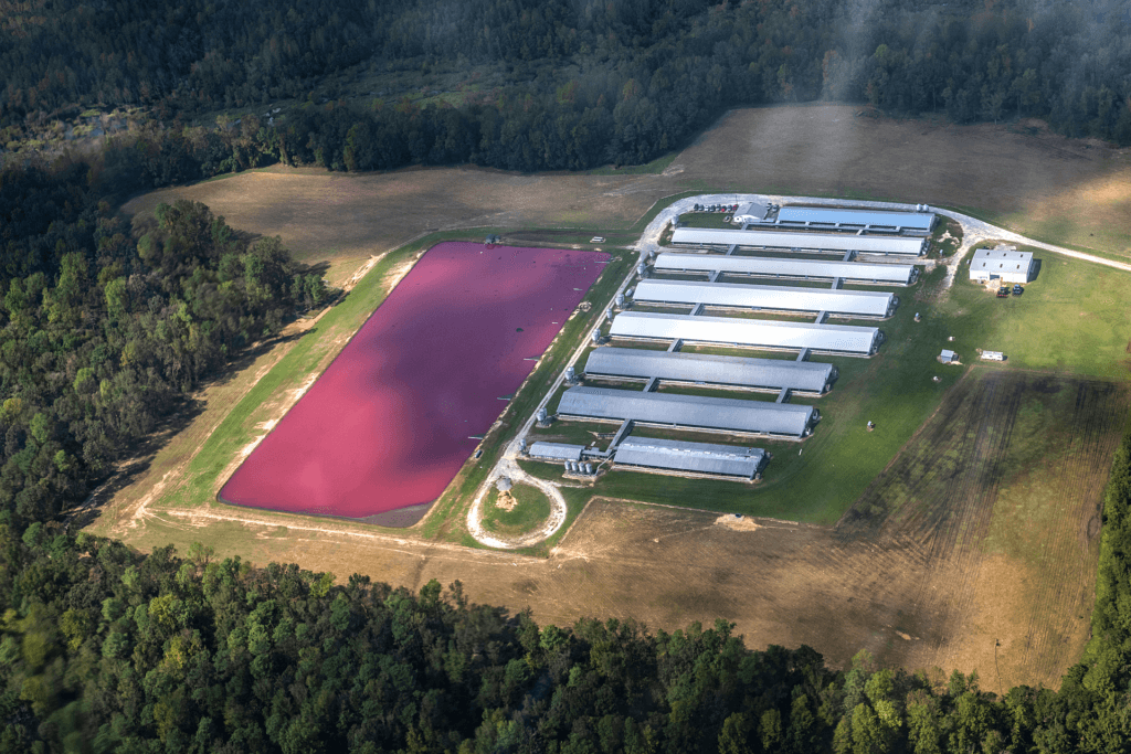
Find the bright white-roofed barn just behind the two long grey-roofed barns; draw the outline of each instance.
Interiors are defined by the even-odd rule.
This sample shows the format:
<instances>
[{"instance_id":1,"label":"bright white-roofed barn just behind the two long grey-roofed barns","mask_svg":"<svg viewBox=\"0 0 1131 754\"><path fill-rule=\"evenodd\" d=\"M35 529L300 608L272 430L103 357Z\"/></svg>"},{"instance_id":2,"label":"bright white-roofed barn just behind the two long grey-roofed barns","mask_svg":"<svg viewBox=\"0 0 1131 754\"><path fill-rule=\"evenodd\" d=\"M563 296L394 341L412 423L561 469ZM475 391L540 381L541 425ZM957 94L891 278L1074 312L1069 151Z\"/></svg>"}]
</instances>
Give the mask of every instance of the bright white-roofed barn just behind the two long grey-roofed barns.
<instances>
[{"instance_id":1,"label":"bright white-roofed barn just behind the two long grey-roofed barns","mask_svg":"<svg viewBox=\"0 0 1131 754\"><path fill-rule=\"evenodd\" d=\"M882 333L874 327L650 312L621 312L613 319L610 335L614 338L691 340L782 350L808 348L819 354L852 356L871 356L883 340Z\"/></svg>"}]
</instances>

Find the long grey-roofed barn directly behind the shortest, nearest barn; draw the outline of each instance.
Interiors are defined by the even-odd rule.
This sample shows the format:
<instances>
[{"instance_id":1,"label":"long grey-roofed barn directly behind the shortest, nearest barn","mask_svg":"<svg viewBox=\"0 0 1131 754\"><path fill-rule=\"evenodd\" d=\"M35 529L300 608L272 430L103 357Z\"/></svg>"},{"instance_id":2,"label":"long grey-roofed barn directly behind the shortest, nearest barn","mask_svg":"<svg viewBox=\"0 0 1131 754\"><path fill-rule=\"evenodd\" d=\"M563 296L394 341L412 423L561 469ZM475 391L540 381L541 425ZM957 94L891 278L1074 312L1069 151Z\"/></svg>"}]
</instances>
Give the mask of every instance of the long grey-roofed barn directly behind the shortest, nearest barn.
<instances>
[{"instance_id":1,"label":"long grey-roofed barn directly behind the shortest, nearest barn","mask_svg":"<svg viewBox=\"0 0 1131 754\"><path fill-rule=\"evenodd\" d=\"M562 395L558 416L800 440L810 433L820 413L812 406L761 400L579 387Z\"/></svg>"}]
</instances>

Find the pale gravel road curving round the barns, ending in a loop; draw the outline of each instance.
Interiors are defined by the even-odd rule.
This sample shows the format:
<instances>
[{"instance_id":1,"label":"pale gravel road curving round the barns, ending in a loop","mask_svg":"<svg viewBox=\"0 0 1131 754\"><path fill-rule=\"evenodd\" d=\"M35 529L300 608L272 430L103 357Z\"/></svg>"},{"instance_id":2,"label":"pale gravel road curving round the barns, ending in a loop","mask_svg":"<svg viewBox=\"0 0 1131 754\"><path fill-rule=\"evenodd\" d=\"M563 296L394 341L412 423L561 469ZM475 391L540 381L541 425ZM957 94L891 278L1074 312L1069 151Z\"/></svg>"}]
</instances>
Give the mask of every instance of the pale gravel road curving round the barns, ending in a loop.
<instances>
[{"instance_id":1,"label":"pale gravel road curving round the barns, ending in a loop","mask_svg":"<svg viewBox=\"0 0 1131 754\"><path fill-rule=\"evenodd\" d=\"M694 205L734 205L743 203L746 201L760 201L760 202L772 202L776 205L789 203L805 203L815 206L844 206L852 205L853 207L866 207L869 209L896 209L903 211L915 211L915 205L906 205L899 202L890 201L858 201L848 199L826 199L821 197L782 197L767 193L703 193L696 197L688 197L685 199L679 199L664 209L659 211L658 215L648 224L644 233L640 234L639 241L632 246L636 251L640 252L641 255L651 253L659 253L663 249L659 245L659 236L663 233L664 227L672 222L676 215L682 215L683 213L691 211ZM1055 244L1045 243L1044 241L1035 241L1034 239L1026 237L1019 233L1013 233L1012 231L1007 231L1005 228L998 227L996 225L991 225L984 220L979 220L976 217L970 217L969 215L964 215L962 213L957 213L951 209L942 209L939 207L932 207L932 211L944 215L953 220L957 220L962 227L962 245L958 251L951 254L950 259L947 260L947 280L946 287L950 287L951 283L955 280L955 275L958 272L958 268L962 262L966 254L976 246L978 243L988 240L995 241L1008 241L1010 243L1020 243L1027 246L1034 246L1037 249L1044 249L1046 251L1052 251L1057 254L1063 254L1065 257L1071 257L1072 259L1079 259L1086 262L1093 262L1095 265L1104 265L1105 267L1114 267L1115 269L1123 270L1125 272L1131 272L1131 265L1126 262L1117 262L1111 259L1104 259L1103 257L1096 257L1094 254L1086 254L1080 251L1074 251L1072 249L1065 249L1064 246L1057 246ZM613 297L605 306L612 305L612 302L616 298L616 293L622 293L628 285L636 277L634 266L621 285L616 288ZM604 319L601 318L594 329L602 326ZM585 350L586 345L589 341L590 333L586 333L585 340L580 343L573 356L569 361L569 366L573 366L577 359L581 356ZM563 370L564 373L564 370ZM520 437L525 437L530 431L530 426L534 424L537 409L542 408L550 402L550 398L554 395L554 391L561 384L563 375L554 381L554 383L546 391L542 401L538 404L537 408L532 411L530 416L527 418L526 423L523 425L523 430L518 433L516 439L508 445L507 451L503 457L495 465L494 469L487 476L486 480L480 486L478 492L475 496L475 502L472 503L472 509L467 512L467 530L470 535L482 545L487 547L497 547L500 549L516 549L519 547L530 547L539 541L550 538L561 526L566 522L566 499L562 496L561 491L558 485L546 482L545 479L538 479L530 476L524 471L517 462L518 459L518 442ZM537 487L546 497L550 499L550 518L546 522L542 525L536 531L532 531L528 535L518 537L516 539L500 538L493 534L486 531L483 528L482 511L483 501L486 499L487 491L491 485L494 484L495 479L499 477L509 477L515 484L528 484Z\"/></svg>"}]
</instances>

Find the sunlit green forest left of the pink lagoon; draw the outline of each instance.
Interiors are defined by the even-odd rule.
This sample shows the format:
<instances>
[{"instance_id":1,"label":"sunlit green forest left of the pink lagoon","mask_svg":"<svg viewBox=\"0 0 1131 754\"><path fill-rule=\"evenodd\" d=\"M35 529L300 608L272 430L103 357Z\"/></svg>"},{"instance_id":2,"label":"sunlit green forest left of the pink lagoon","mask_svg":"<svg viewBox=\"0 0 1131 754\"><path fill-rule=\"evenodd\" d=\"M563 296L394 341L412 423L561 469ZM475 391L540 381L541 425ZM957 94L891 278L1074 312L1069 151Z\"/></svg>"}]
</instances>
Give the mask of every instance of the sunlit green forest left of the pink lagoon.
<instances>
[{"instance_id":1,"label":"sunlit green forest left of the pink lagoon","mask_svg":"<svg viewBox=\"0 0 1131 754\"><path fill-rule=\"evenodd\" d=\"M231 358L326 297L200 203L127 224L85 164L0 172L0 520L86 496Z\"/></svg>"}]
</instances>

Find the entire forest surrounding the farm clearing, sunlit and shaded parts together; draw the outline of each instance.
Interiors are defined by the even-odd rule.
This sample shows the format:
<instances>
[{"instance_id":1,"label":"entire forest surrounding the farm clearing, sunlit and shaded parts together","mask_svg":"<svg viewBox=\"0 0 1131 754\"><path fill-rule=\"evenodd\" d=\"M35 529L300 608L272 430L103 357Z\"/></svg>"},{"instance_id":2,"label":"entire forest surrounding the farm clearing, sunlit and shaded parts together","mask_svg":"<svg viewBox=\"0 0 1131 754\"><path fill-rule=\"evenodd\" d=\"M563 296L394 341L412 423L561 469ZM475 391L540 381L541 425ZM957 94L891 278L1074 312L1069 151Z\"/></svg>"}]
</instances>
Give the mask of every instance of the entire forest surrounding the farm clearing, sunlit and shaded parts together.
<instances>
[{"instance_id":1,"label":"entire forest surrounding the farm clearing, sunlit and shaded parts together","mask_svg":"<svg viewBox=\"0 0 1131 754\"><path fill-rule=\"evenodd\" d=\"M279 240L199 203L130 223L130 193L271 162L633 164L727 107L818 98L1131 144L1129 37L1114 0L3 3L0 146L89 107L149 120L0 172L0 752L1131 751L1131 440L1094 639L1056 692L866 655L832 670L725 622L539 627L458 583L334 586L64 523L189 393L327 297ZM472 69L490 86L424 105L349 89Z\"/></svg>"}]
</instances>

